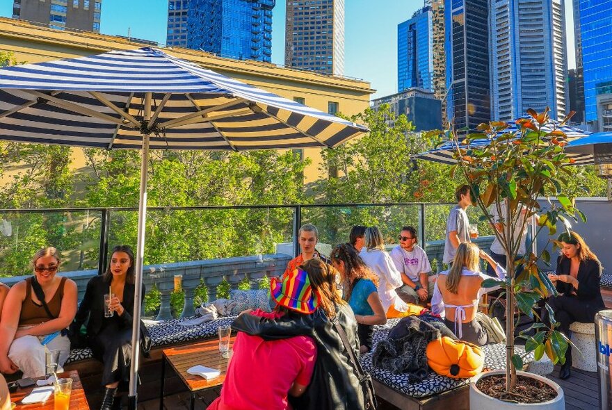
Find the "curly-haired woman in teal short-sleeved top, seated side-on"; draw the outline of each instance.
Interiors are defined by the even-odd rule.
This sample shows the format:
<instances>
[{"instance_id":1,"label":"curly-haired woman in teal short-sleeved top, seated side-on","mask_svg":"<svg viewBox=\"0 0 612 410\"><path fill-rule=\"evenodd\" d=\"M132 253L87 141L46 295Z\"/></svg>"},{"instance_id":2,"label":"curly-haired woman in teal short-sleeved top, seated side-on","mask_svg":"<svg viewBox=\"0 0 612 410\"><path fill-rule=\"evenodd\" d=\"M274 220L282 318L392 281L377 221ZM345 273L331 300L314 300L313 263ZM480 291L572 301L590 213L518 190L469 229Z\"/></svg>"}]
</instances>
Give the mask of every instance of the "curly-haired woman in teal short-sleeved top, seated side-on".
<instances>
[{"instance_id":1,"label":"curly-haired woman in teal short-sleeved top, seated side-on","mask_svg":"<svg viewBox=\"0 0 612 410\"><path fill-rule=\"evenodd\" d=\"M351 306L357 321L360 353L372 349L374 325L385 325L387 316L378 296L378 277L367 267L350 243L332 250L332 266L340 272L344 285L343 299Z\"/></svg>"}]
</instances>

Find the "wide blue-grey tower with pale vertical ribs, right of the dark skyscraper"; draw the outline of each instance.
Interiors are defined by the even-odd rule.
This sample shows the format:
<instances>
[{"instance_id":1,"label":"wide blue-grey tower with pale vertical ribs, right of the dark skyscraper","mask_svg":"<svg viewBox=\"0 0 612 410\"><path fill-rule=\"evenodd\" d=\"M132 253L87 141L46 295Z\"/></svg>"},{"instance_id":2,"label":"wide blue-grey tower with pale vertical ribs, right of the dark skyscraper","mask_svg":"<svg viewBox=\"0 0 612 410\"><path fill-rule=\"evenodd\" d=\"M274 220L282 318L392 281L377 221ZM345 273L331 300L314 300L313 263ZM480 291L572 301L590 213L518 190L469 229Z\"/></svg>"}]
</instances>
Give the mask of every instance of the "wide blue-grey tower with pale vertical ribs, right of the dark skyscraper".
<instances>
[{"instance_id":1,"label":"wide blue-grey tower with pale vertical ribs, right of the dark skyscraper","mask_svg":"<svg viewBox=\"0 0 612 410\"><path fill-rule=\"evenodd\" d=\"M492 117L510 121L526 110L567 111L563 0L490 3Z\"/></svg>"}]
</instances>

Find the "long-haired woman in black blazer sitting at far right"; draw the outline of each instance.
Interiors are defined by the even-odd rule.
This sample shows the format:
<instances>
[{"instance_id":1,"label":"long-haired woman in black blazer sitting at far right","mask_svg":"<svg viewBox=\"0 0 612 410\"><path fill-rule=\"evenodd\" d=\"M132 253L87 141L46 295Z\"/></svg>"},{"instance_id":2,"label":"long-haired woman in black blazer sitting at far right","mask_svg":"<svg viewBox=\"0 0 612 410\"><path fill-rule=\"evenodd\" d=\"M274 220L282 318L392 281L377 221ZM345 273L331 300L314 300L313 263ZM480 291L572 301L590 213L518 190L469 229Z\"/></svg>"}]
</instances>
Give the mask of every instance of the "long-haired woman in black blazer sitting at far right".
<instances>
[{"instance_id":1,"label":"long-haired woman in black blazer sitting at far right","mask_svg":"<svg viewBox=\"0 0 612 410\"><path fill-rule=\"evenodd\" d=\"M595 313L605 309L599 288L602 264L578 233L562 233L557 240L561 255L557 259L556 274L548 277L556 285L559 295L550 297L547 303L554 311L555 320L561 324L559 331L569 337L573 322L593 323ZM545 322L549 322L546 310L543 316ZM559 378L570 377L570 368L572 349L568 345Z\"/></svg>"}]
</instances>

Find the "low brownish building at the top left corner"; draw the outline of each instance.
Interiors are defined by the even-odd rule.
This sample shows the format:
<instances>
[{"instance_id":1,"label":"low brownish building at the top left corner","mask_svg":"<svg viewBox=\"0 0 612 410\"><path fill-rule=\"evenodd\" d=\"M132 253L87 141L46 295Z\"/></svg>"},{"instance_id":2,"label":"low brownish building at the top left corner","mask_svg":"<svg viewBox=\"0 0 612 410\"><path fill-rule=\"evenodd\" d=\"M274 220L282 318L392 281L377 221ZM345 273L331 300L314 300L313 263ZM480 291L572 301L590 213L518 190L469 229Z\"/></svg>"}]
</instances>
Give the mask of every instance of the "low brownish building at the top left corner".
<instances>
[{"instance_id":1,"label":"low brownish building at the top left corner","mask_svg":"<svg viewBox=\"0 0 612 410\"><path fill-rule=\"evenodd\" d=\"M102 0L13 0L13 18L48 24L64 30L74 28L100 32Z\"/></svg>"}]
</instances>

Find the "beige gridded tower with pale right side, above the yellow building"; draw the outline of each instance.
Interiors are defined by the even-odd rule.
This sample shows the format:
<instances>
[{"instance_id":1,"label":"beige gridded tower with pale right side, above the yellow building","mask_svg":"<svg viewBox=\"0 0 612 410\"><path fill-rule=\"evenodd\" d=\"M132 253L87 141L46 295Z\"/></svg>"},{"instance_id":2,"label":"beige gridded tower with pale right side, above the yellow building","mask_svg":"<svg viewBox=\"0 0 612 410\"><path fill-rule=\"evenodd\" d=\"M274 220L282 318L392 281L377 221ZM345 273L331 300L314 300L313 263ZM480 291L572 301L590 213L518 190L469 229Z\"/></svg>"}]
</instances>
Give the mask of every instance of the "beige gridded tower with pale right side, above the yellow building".
<instances>
[{"instance_id":1,"label":"beige gridded tower with pale right side, above the yellow building","mask_svg":"<svg viewBox=\"0 0 612 410\"><path fill-rule=\"evenodd\" d=\"M344 0L287 1L284 64L344 74Z\"/></svg>"}]
</instances>

